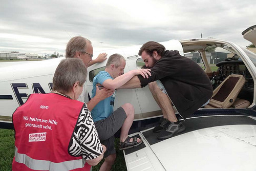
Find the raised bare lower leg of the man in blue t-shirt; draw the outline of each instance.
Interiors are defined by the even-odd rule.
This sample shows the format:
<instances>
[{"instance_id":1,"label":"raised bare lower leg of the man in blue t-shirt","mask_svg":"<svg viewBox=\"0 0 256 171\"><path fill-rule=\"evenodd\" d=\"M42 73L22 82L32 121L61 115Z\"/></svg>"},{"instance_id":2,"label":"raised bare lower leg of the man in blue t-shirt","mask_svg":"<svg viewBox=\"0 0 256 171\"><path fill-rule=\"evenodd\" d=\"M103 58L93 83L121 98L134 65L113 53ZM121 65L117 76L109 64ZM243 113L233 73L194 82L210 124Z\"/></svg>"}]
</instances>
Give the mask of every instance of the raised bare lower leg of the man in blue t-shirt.
<instances>
[{"instance_id":1,"label":"raised bare lower leg of the man in blue t-shirt","mask_svg":"<svg viewBox=\"0 0 256 171\"><path fill-rule=\"evenodd\" d=\"M123 122L123 125L121 127L121 134L120 134L120 141L124 142L125 139L128 136L128 132L133 124L133 119L134 119L134 107L131 103L125 103L121 106L123 110L126 113L126 119ZM130 142L132 142L133 139L130 139ZM140 142L141 140L137 138L137 142Z\"/></svg>"}]
</instances>

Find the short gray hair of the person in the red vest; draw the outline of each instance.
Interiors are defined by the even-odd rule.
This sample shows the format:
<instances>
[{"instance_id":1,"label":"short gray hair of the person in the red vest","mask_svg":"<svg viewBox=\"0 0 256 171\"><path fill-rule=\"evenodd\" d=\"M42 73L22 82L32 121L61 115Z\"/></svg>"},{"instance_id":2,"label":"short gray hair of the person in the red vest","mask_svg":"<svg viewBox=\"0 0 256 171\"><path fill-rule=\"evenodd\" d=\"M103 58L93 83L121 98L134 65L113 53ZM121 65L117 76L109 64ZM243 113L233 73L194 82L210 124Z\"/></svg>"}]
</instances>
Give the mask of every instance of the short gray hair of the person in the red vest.
<instances>
[{"instance_id":1,"label":"short gray hair of the person in the red vest","mask_svg":"<svg viewBox=\"0 0 256 171\"><path fill-rule=\"evenodd\" d=\"M74 83L79 81L82 86L86 81L87 69L81 59L66 58L60 61L53 76L53 88L61 93L68 93Z\"/></svg>"}]
</instances>

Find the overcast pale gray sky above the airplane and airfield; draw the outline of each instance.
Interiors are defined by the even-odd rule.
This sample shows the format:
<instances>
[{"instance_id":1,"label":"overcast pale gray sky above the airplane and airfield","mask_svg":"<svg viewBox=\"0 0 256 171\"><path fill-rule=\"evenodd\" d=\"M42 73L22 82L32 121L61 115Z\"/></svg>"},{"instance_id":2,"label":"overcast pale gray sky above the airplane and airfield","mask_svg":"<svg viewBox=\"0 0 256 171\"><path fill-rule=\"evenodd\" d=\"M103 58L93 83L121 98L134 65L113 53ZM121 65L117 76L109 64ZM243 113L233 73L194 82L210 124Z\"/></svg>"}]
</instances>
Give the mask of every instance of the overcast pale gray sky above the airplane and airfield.
<instances>
[{"instance_id":1,"label":"overcast pale gray sky above the airplane and airfield","mask_svg":"<svg viewBox=\"0 0 256 171\"><path fill-rule=\"evenodd\" d=\"M71 37L94 51L146 41L213 37L242 46L256 24L255 0L5 1L0 0L0 51L65 54Z\"/></svg>"}]
</instances>

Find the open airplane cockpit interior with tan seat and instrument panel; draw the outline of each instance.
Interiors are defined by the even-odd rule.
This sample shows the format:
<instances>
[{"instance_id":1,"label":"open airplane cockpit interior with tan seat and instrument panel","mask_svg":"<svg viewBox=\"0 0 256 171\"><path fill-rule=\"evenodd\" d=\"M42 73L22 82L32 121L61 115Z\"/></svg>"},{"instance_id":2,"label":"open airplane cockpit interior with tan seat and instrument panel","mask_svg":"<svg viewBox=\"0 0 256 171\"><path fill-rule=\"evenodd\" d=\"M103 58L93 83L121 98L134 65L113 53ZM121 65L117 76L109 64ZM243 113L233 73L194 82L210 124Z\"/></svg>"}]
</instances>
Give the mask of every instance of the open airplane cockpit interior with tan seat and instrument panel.
<instances>
[{"instance_id":1,"label":"open airplane cockpit interior with tan seat and instrument panel","mask_svg":"<svg viewBox=\"0 0 256 171\"><path fill-rule=\"evenodd\" d=\"M252 104L254 82L239 52L221 42L182 46L184 56L202 66L211 80L214 92L204 108L241 109Z\"/></svg>"}]
</instances>

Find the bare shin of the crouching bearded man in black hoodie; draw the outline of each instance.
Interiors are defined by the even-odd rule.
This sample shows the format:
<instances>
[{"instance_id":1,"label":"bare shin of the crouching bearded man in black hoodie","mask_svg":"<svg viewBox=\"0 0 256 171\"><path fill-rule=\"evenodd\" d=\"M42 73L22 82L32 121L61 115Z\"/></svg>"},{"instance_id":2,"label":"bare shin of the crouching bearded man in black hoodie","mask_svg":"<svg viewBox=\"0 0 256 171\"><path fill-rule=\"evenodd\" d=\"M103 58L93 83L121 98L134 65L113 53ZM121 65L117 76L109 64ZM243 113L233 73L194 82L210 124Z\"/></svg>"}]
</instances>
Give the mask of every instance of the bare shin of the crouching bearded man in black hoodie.
<instances>
[{"instance_id":1,"label":"bare shin of the crouching bearded man in black hoodie","mask_svg":"<svg viewBox=\"0 0 256 171\"><path fill-rule=\"evenodd\" d=\"M169 97L159 89L156 82L152 82L150 85L150 91L162 110L164 118L168 118L168 120L171 122L177 122L178 119L175 115L172 102L170 101Z\"/></svg>"}]
</instances>

